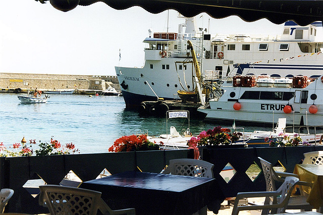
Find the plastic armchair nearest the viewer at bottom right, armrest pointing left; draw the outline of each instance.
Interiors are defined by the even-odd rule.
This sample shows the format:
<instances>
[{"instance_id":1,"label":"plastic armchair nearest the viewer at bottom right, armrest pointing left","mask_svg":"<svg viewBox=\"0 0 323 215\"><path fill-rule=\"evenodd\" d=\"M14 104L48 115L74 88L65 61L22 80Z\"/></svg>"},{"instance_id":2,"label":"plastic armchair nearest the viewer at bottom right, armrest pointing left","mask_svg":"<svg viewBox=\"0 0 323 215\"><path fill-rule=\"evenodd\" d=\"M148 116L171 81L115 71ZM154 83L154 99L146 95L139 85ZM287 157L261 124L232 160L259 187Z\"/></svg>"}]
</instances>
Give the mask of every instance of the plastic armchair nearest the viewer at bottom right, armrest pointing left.
<instances>
[{"instance_id":1,"label":"plastic armchair nearest the viewer at bottom right, armrest pointing left","mask_svg":"<svg viewBox=\"0 0 323 215\"><path fill-rule=\"evenodd\" d=\"M264 192L243 192L238 193L232 215L237 215L241 210L271 210L271 213L284 213L290 198L290 195L299 181L296 177L286 177L282 186L277 191L264 191ZM239 200L243 198L255 198L255 197L272 197L274 199L271 204L264 205L239 205Z\"/></svg>"}]
</instances>

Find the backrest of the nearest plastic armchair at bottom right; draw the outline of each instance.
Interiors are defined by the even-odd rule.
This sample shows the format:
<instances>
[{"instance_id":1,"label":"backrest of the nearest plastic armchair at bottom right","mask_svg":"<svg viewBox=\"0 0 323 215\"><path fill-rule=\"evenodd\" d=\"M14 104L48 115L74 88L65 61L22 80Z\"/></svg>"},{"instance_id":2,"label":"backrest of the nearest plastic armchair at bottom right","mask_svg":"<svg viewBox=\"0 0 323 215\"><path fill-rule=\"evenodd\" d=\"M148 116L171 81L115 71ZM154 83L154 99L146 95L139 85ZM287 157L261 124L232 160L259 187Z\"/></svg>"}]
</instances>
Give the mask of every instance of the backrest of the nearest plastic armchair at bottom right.
<instances>
[{"instance_id":1,"label":"backrest of the nearest plastic armchair at bottom right","mask_svg":"<svg viewBox=\"0 0 323 215\"><path fill-rule=\"evenodd\" d=\"M299 181L298 178L293 176L288 176L285 178L284 183L278 188L278 192L281 194L278 198L277 203L280 204L280 207L277 208L277 213L284 213L288 205L289 198L292 194L292 191Z\"/></svg>"}]
</instances>

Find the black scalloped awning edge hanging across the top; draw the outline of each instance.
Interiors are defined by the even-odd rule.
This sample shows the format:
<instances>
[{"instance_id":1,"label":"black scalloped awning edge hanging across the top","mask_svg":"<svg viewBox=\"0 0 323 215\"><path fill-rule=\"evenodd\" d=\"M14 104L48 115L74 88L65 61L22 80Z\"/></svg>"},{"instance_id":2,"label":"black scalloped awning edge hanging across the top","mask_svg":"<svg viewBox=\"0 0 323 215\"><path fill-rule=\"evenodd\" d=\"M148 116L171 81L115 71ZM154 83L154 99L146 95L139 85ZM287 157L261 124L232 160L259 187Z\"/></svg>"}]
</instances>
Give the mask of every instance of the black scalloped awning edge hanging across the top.
<instances>
[{"instance_id":1,"label":"black scalloped awning edge hanging across the top","mask_svg":"<svg viewBox=\"0 0 323 215\"><path fill-rule=\"evenodd\" d=\"M43 0L36 1L43 2ZM117 10L140 6L153 14L174 9L185 17L192 17L202 12L213 18L237 15L248 22L266 18L275 24L294 20L299 25L307 25L323 20L323 1L313 0L50 0L51 3L59 2L60 4L71 1L77 1L82 6L104 2ZM62 11L69 10L63 9Z\"/></svg>"}]
</instances>

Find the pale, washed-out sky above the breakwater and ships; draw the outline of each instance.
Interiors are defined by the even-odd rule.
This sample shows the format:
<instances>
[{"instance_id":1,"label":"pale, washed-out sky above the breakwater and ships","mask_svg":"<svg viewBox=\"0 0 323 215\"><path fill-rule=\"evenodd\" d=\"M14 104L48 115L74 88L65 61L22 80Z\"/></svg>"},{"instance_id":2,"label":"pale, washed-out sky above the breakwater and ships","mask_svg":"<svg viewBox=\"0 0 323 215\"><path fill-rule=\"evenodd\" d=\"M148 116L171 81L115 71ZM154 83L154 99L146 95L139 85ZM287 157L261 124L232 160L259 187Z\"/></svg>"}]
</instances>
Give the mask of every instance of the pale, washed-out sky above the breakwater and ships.
<instances>
[{"instance_id":1,"label":"pale, washed-out sky above the breakwater and ships","mask_svg":"<svg viewBox=\"0 0 323 215\"><path fill-rule=\"evenodd\" d=\"M201 15L203 15L201 17ZM169 12L169 32L177 32L178 12ZM282 25L266 19L247 23L239 17L212 19L197 16L198 27L210 33L281 34ZM140 7L118 11L104 3L77 6L70 12L49 1L0 2L0 72L115 75L115 66L141 67L148 29L163 32L167 11L150 14Z\"/></svg>"}]
</instances>

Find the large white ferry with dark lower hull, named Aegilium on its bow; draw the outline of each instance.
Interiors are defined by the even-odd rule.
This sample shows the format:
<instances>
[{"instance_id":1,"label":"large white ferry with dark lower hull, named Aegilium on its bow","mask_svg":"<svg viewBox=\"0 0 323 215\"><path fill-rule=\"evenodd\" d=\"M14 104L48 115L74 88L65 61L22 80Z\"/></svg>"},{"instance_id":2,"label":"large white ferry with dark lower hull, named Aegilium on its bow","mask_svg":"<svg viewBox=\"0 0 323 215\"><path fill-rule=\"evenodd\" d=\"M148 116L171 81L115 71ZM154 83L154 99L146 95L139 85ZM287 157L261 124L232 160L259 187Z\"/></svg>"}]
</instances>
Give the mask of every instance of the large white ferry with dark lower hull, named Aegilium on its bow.
<instances>
[{"instance_id":1,"label":"large white ferry with dark lower hull, named Aegilium on its bow","mask_svg":"<svg viewBox=\"0 0 323 215\"><path fill-rule=\"evenodd\" d=\"M227 76L241 64L238 74L266 74L274 77L323 74L323 29L321 22L298 26L285 23L282 35L210 35L198 29L194 18L185 18L177 33L152 32L146 43L142 68L115 67L126 108L144 100L174 99L178 90L193 90L193 64L187 40L192 41L202 77ZM203 47L203 49L201 48ZM202 57L202 58L201 58ZM243 64L243 65L242 65Z\"/></svg>"}]
</instances>

